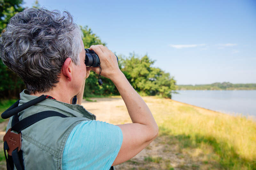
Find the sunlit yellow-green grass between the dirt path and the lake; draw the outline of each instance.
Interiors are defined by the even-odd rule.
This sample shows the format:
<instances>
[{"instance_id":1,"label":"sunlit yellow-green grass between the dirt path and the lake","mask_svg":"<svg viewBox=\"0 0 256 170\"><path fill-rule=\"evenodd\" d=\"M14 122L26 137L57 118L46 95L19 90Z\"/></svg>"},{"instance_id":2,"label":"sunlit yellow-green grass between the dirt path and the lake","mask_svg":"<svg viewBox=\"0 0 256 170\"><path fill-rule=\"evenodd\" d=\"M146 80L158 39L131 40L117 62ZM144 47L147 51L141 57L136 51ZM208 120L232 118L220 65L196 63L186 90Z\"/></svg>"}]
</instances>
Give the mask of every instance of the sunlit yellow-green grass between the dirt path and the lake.
<instances>
[{"instance_id":1,"label":"sunlit yellow-green grass between the dirt path and the lake","mask_svg":"<svg viewBox=\"0 0 256 170\"><path fill-rule=\"evenodd\" d=\"M159 136L166 136L169 144L177 142L181 152L208 149L204 162L217 162L217 169L256 169L254 121L168 99L146 102L159 125Z\"/></svg>"}]
</instances>

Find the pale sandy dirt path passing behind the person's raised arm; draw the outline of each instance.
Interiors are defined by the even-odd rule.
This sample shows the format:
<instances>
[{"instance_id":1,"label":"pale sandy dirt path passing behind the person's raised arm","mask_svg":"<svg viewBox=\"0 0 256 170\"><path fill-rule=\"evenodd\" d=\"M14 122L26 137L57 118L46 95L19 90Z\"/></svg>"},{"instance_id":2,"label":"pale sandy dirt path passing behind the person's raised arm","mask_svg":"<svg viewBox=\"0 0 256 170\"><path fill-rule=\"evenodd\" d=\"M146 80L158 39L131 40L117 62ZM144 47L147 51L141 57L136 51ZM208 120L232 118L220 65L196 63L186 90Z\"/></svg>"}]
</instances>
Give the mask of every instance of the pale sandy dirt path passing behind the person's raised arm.
<instances>
[{"instance_id":1,"label":"pale sandy dirt path passing behind the person's raised arm","mask_svg":"<svg viewBox=\"0 0 256 170\"><path fill-rule=\"evenodd\" d=\"M152 97L143 97L149 107L154 106ZM97 102L84 101L82 105L91 113L97 116L97 120L112 124L132 123L125 103L121 97L115 98L91 98ZM115 166L116 170L123 169L168 169L175 170L186 169L183 166L189 164L189 160L183 154L179 153L177 143L165 144L168 141L165 137L157 137L144 150L137 154L131 160ZM177 154L178 153L178 154ZM151 158L153 160L151 160ZM145 161L145 159L149 159Z\"/></svg>"}]
</instances>

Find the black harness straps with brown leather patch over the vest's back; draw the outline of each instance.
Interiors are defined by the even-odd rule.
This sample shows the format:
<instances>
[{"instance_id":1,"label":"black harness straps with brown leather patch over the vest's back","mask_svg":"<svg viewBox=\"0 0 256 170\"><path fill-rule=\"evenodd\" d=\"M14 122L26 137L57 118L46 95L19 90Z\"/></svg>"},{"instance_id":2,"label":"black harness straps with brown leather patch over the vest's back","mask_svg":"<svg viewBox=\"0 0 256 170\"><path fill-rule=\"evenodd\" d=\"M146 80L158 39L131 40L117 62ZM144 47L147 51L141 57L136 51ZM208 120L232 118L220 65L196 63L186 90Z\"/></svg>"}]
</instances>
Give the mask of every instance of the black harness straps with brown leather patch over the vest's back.
<instances>
[{"instance_id":1,"label":"black harness straps with brown leather patch over the vest's back","mask_svg":"<svg viewBox=\"0 0 256 170\"><path fill-rule=\"evenodd\" d=\"M4 111L4 113L2 113L1 117L3 119L7 119L11 116L12 117L12 128L8 130L9 134L5 134L4 136L4 156L5 156L5 160L6 160L6 167L7 170L13 170L14 169L14 165L16 167L17 170L24 170L24 164L23 164L23 157L22 157L22 150L20 150L21 148L21 140L20 140L20 144L16 144L17 147L12 147L9 148L7 141L11 141L11 143L13 142L13 135L10 133L12 130L16 131L18 134L20 134L21 130L27 128L28 126L43 120L45 118L48 117L52 117L52 116L59 116L59 117L68 117L66 115L63 115L59 112L56 111L43 111L43 112L39 112L33 115L30 115L24 119L22 119L21 121L19 121L19 116L18 113L21 112L22 110L27 109L30 106L33 106L43 100L46 99L46 96L42 95L36 99L30 100L27 103L24 103L20 106L19 102L20 100L16 101L11 107L9 107L6 111ZM75 103L75 102L74 102ZM6 140L6 138L9 138L8 140ZM16 143L19 141L16 141ZM16 146L15 145L15 146ZM11 146L11 145L10 145ZM8 158L6 156L6 151L8 152ZM9 154L11 153L11 154ZM111 166L109 170L115 170L114 166Z\"/></svg>"}]
</instances>

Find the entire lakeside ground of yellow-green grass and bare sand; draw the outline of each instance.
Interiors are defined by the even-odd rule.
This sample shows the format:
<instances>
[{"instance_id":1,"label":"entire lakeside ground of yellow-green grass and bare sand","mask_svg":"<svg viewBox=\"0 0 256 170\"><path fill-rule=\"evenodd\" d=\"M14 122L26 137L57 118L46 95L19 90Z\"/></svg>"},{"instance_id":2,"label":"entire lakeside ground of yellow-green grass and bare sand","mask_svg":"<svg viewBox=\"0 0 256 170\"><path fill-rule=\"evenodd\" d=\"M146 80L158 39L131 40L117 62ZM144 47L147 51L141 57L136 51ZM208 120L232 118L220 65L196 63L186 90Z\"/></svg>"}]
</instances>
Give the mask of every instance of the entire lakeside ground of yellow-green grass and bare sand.
<instances>
[{"instance_id":1,"label":"entire lakeside ground of yellow-green grass and bare sand","mask_svg":"<svg viewBox=\"0 0 256 170\"><path fill-rule=\"evenodd\" d=\"M170 99L143 99L156 119L159 136L134 158L116 166L116 170L256 170L255 120ZM105 112L112 111L109 119L106 118L107 122L130 122L120 97L92 98L84 102L85 108L89 111L92 108L91 112L98 119L101 117L98 116L97 109L93 110L95 106L102 107ZM103 106L104 102L106 106ZM98 112L103 112L102 110ZM4 155L3 151L0 152L0 165L3 165Z\"/></svg>"}]
</instances>

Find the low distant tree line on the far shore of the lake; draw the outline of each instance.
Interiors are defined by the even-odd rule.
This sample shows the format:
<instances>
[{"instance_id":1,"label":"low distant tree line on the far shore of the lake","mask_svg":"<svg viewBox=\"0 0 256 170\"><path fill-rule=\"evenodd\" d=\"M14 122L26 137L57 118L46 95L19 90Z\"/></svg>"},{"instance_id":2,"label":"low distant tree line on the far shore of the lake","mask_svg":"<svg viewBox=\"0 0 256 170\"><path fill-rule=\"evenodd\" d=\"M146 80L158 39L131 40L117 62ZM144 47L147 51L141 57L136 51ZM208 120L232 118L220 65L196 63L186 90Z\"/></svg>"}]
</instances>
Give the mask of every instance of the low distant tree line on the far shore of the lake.
<instances>
[{"instance_id":1,"label":"low distant tree line on the far shore of the lake","mask_svg":"<svg viewBox=\"0 0 256 170\"><path fill-rule=\"evenodd\" d=\"M256 84L232 84L223 82L210 85L178 85L178 90L256 90Z\"/></svg>"}]
</instances>

